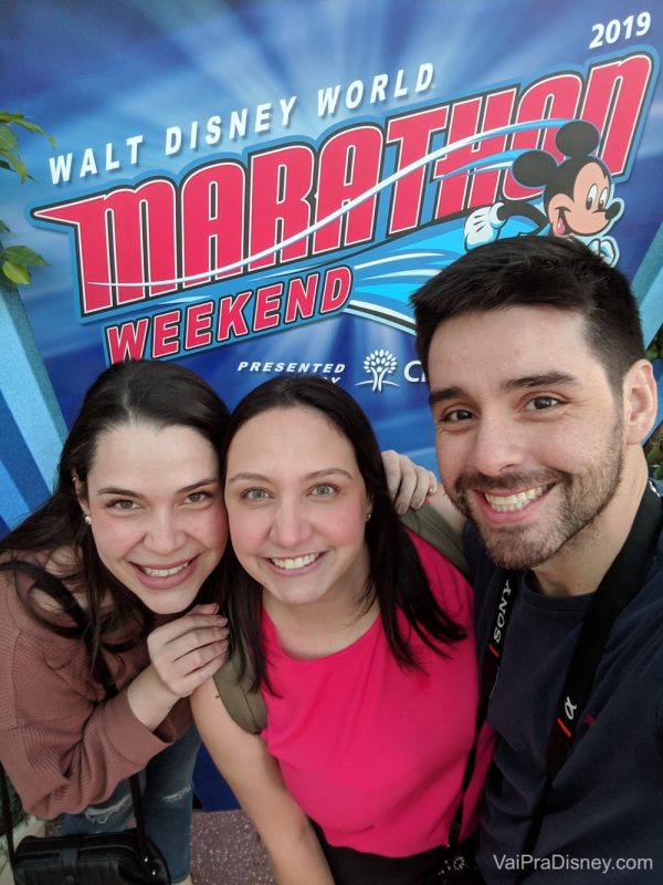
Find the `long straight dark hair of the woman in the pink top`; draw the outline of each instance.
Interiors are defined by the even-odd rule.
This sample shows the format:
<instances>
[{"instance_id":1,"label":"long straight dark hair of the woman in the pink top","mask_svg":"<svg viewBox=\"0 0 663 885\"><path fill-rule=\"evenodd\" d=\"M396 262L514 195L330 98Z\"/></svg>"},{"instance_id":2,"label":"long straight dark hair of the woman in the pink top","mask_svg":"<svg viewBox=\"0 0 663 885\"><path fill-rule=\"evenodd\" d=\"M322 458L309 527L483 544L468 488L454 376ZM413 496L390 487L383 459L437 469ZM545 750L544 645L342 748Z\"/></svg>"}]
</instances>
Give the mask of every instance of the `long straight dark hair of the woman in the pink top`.
<instances>
[{"instance_id":1,"label":"long straight dark hair of the woman in the pink top","mask_svg":"<svg viewBox=\"0 0 663 885\"><path fill-rule=\"evenodd\" d=\"M228 450L238 430L263 412L295 407L319 412L352 445L372 502L372 517L366 523L370 566L362 602L368 610L377 597L394 658L404 667L420 666L399 626L399 610L428 646L445 655L440 643L456 642L465 636L465 631L440 608L433 596L414 545L393 509L380 449L368 418L338 385L319 376L292 375L272 378L248 394L228 425L223 479ZM261 638L262 589L240 565L231 546L223 558L223 603L239 647L240 669L245 669L245 648L255 669L254 687L257 687L262 680L267 680ZM240 638L243 642L239 642Z\"/></svg>"}]
</instances>

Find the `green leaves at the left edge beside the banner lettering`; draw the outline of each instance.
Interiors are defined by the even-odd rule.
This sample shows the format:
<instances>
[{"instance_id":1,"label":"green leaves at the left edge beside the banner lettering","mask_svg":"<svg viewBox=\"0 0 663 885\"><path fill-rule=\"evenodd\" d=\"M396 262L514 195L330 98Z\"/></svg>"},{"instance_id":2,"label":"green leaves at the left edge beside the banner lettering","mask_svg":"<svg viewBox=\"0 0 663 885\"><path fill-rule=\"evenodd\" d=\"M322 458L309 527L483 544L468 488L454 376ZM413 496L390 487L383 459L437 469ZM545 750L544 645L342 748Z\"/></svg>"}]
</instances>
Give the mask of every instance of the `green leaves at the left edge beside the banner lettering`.
<instances>
[{"instance_id":1,"label":"green leaves at the left edge beside the banner lettering","mask_svg":"<svg viewBox=\"0 0 663 885\"><path fill-rule=\"evenodd\" d=\"M12 128L13 127L13 128ZM43 135L55 147L53 136L45 133L36 123L27 119L23 114L0 111L0 169L18 175L21 184L28 179L34 180L19 154L19 137L15 128ZM9 232L9 228L0 219L0 232ZM10 246L3 249L0 246L0 283L29 283L31 280L28 268L45 264L44 259L27 246Z\"/></svg>"}]
</instances>

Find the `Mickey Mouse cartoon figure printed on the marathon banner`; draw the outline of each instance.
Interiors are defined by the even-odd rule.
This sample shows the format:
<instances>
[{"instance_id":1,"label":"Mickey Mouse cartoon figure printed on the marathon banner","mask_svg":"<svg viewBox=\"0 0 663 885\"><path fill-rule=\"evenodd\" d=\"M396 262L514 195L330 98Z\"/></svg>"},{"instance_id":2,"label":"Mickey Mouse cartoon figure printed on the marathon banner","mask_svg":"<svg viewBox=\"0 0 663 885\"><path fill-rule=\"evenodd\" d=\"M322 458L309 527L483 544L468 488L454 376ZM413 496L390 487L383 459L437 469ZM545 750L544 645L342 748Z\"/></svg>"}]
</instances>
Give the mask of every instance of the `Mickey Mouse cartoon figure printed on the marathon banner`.
<instances>
[{"instance_id":1,"label":"Mickey Mouse cartoon figure printed on the marathon banner","mask_svg":"<svg viewBox=\"0 0 663 885\"><path fill-rule=\"evenodd\" d=\"M592 156L599 133L591 123L575 119L561 126L555 139L559 165L545 150L527 150L515 160L512 173L526 187L544 187L543 209L527 200L504 200L473 211L465 220L465 248L497 239L509 218L534 222L532 233L576 237L602 256L609 264L619 259L619 247L606 233L621 216L624 204L612 198L612 181L606 165Z\"/></svg>"}]
</instances>

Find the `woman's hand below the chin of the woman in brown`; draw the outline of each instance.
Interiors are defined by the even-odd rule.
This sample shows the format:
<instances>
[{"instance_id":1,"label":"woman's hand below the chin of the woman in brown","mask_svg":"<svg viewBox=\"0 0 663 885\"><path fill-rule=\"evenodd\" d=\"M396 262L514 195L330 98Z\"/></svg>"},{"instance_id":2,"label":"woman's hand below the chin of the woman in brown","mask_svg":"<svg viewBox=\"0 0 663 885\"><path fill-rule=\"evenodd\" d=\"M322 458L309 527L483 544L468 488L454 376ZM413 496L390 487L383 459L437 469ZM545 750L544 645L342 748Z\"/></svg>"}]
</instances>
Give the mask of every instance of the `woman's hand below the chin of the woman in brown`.
<instances>
[{"instance_id":1,"label":"woman's hand below the chin of the woman in brown","mask_svg":"<svg viewBox=\"0 0 663 885\"><path fill-rule=\"evenodd\" d=\"M228 622L213 603L196 605L147 637L150 665L128 688L134 715L155 730L180 698L210 679L228 654Z\"/></svg>"}]
</instances>

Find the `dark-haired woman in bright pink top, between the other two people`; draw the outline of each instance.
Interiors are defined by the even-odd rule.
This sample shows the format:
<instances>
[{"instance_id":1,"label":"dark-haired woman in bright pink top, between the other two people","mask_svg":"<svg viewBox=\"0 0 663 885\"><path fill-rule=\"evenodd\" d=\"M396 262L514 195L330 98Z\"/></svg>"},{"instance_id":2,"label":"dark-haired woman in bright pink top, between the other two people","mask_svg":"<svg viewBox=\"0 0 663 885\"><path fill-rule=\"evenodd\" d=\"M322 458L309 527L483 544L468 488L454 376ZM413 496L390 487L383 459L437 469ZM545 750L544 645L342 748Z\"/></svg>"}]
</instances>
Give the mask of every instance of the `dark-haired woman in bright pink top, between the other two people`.
<instances>
[{"instance_id":1,"label":"dark-haired woman in bright pink top, between the other two people","mask_svg":"<svg viewBox=\"0 0 663 885\"><path fill-rule=\"evenodd\" d=\"M469 584L401 525L370 425L329 382L249 394L223 472L225 607L266 727L242 731L212 680L192 707L278 885L444 882L478 699ZM486 737L462 837L488 756Z\"/></svg>"}]
</instances>

